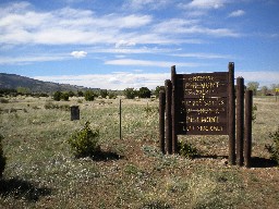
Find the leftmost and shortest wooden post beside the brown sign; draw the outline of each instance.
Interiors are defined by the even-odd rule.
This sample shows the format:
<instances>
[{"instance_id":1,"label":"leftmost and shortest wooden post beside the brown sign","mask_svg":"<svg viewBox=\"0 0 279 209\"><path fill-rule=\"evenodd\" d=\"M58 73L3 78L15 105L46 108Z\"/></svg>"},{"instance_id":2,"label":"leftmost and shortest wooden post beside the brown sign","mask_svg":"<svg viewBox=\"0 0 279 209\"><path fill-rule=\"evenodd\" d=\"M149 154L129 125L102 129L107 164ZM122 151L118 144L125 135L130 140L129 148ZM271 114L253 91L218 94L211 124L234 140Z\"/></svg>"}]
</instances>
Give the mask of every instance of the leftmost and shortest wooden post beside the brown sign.
<instances>
[{"instance_id":1,"label":"leftmost and shortest wooden post beside the brown sign","mask_svg":"<svg viewBox=\"0 0 279 209\"><path fill-rule=\"evenodd\" d=\"M159 140L160 150L166 153L165 150L165 108L166 108L166 93L160 90L159 93Z\"/></svg>"}]
</instances>

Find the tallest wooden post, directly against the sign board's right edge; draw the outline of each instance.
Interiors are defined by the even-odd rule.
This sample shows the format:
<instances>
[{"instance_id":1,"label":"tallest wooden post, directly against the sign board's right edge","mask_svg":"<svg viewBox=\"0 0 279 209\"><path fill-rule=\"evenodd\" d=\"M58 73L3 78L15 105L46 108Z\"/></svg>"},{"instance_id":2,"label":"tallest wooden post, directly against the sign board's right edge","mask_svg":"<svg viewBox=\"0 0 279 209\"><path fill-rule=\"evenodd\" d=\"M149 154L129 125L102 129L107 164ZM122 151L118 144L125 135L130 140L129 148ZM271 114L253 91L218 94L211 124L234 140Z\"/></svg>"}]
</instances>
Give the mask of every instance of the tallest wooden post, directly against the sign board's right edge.
<instances>
[{"instance_id":1,"label":"tallest wooden post, directly against the sign board's right edge","mask_svg":"<svg viewBox=\"0 0 279 209\"><path fill-rule=\"evenodd\" d=\"M234 63L229 62L229 163L235 164L235 93L234 93Z\"/></svg>"}]
</instances>

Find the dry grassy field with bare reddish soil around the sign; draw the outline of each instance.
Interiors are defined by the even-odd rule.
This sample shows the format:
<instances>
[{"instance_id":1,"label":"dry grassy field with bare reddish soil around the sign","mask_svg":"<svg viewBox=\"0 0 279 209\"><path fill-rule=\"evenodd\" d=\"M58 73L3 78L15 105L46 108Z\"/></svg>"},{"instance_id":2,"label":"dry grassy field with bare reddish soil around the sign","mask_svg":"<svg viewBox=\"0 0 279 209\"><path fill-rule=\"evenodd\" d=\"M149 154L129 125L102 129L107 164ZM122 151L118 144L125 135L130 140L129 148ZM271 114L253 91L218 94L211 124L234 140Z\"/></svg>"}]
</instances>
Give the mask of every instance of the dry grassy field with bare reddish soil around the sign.
<instances>
[{"instance_id":1,"label":"dry grassy field with bare reddish soil around the sign","mask_svg":"<svg viewBox=\"0 0 279 209\"><path fill-rule=\"evenodd\" d=\"M228 165L227 136L179 137L197 147L193 160L158 149L158 101L87 102L9 98L0 103L8 164L0 208L278 208L279 172L265 149L279 125L279 102L254 98L253 164ZM46 109L58 104L60 109ZM65 106L63 106L65 104ZM68 106L81 120L70 121ZM66 143L86 121L100 131L102 155L76 159Z\"/></svg>"}]
</instances>

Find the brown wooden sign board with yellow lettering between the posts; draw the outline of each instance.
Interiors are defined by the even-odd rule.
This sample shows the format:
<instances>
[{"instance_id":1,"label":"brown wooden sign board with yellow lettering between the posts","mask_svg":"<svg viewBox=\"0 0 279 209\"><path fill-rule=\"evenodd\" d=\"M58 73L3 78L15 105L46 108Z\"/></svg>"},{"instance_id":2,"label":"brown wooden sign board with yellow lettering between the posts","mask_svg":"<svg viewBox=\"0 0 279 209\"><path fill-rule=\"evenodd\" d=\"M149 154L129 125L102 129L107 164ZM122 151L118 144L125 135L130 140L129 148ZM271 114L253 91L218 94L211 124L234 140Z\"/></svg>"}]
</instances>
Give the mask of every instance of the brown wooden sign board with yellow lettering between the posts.
<instances>
[{"instance_id":1,"label":"brown wooden sign board with yellow lettering between the posts","mask_svg":"<svg viewBox=\"0 0 279 209\"><path fill-rule=\"evenodd\" d=\"M228 134L228 73L177 74L180 135Z\"/></svg>"}]
</instances>

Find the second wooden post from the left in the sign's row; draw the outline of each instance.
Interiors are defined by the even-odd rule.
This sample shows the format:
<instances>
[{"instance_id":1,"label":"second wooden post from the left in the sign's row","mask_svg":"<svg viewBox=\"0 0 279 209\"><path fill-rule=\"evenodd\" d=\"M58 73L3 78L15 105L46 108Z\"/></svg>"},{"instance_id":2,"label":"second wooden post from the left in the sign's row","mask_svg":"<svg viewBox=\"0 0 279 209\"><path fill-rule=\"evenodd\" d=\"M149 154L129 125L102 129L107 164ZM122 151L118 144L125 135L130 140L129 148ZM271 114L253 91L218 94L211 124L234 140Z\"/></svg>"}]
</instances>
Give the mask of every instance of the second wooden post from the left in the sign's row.
<instances>
[{"instance_id":1,"label":"second wooden post from the left in the sign's row","mask_svg":"<svg viewBox=\"0 0 279 209\"><path fill-rule=\"evenodd\" d=\"M166 151L172 153L172 138L171 138L171 81L165 82L166 88Z\"/></svg>"}]
</instances>

